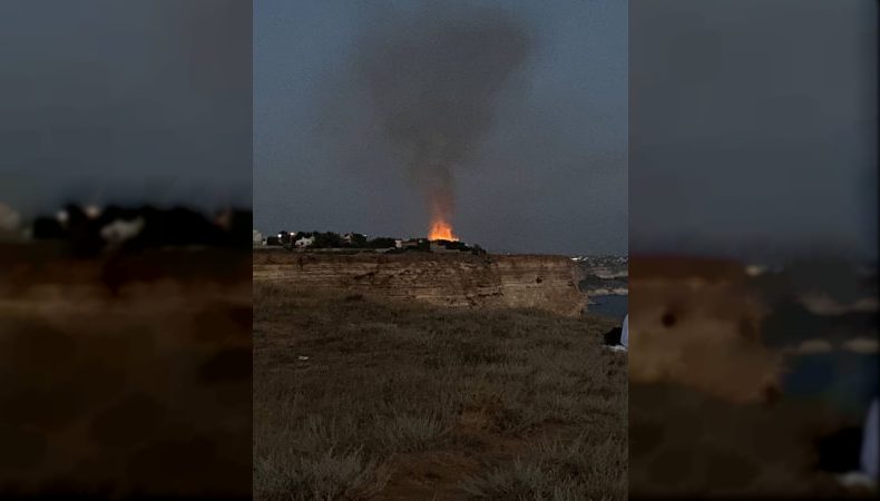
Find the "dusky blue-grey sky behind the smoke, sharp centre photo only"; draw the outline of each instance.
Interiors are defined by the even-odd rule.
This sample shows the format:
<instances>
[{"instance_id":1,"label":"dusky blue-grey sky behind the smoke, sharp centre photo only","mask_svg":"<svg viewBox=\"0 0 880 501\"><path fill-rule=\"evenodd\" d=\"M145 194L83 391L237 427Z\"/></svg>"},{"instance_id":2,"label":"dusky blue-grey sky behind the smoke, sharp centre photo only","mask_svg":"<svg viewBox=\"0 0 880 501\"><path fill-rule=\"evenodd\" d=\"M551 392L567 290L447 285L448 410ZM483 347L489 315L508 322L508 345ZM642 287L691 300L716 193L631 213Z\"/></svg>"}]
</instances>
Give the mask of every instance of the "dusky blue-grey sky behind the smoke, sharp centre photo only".
<instances>
[{"instance_id":1,"label":"dusky blue-grey sky behind the smoke, sharp centre photo only","mask_svg":"<svg viewBox=\"0 0 880 501\"><path fill-rule=\"evenodd\" d=\"M424 236L440 183L465 242L625 254L626 2L379 6L254 6L255 227Z\"/></svg>"}]
</instances>

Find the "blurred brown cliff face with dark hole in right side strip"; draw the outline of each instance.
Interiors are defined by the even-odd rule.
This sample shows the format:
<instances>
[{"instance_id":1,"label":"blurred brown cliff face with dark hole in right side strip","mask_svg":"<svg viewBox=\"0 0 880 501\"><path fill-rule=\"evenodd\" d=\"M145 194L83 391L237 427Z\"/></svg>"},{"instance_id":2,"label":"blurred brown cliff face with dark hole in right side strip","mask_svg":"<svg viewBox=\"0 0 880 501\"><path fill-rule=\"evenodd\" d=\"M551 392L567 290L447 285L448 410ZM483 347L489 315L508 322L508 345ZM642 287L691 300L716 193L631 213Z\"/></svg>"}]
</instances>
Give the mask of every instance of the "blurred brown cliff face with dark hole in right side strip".
<instances>
[{"instance_id":1,"label":"blurred brown cliff face with dark hole in right side strip","mask_svg":"<svg viewBox=\"0 0 880 501\"><path fill-rule=\"evenodd\" d=\"M675 382L733 402L779 391L766 314L735 262L635 256L629 266L629 381Z\"/></svg>"}]
</instances>

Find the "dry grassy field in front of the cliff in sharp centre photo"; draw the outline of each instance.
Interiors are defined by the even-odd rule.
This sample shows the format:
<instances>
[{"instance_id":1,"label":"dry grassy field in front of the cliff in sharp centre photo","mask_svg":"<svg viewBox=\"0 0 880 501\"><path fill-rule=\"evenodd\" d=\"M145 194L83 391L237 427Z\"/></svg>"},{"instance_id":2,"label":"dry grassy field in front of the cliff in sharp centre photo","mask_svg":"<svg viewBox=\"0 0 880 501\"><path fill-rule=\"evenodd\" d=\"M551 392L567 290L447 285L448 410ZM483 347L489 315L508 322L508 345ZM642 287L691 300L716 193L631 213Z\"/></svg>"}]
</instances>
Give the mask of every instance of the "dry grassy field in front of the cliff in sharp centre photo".
<instances>
[{"instance_id":1,"label":"dry grassy field in front of the cliff in sharp centre photo","mask_svg":"<svg viewBox=\"0 0 880 501\"><path fill-rule=\"evenodd\" d=\"M255 283L255 498L625 499L612 326Z\"/></svg>"}]
</instances>

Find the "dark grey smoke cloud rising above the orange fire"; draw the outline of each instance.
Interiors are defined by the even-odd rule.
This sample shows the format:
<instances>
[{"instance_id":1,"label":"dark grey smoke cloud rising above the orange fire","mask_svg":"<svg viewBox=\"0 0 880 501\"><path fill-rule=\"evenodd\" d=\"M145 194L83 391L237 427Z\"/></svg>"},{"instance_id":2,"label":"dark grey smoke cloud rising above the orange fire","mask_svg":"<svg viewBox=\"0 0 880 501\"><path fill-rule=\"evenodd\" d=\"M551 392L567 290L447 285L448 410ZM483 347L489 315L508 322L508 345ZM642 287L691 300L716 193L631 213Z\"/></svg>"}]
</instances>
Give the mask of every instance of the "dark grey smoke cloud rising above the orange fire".
<instances>
[{"instance_id":1,"label":"dark grey smoke cloud rising above the orange fire","mask_svg":"<svg viewBox=\"0 0 880 501\"><path fill-rule=\"evenodd\" d=\"M362 35L353 71L429 210L449 220L454 170L491 129L495 96L532 39L521 19L497 9L447 4L400 16Z\"/></svg>"}]
</instances>

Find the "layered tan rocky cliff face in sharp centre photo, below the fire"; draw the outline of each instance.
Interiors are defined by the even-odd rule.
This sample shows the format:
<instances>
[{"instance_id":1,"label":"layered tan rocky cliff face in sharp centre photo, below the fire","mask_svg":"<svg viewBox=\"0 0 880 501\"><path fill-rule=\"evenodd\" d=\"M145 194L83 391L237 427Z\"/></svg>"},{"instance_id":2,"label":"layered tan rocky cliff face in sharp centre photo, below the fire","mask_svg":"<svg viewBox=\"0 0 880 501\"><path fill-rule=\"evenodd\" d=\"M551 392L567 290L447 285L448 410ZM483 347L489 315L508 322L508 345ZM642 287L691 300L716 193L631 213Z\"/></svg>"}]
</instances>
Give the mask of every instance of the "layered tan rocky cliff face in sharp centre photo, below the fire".
<instances>
[{"instance_id":1,"label":"layered tan rocky cliff face in sharp centre photo, below the fire","mask_svg":"<svg viewBox=\"0 0 880 501\"><path fill-rule=\"evenodd\" d=\"M477 308L534 307L576 316L587 303L578 266L564 256L256 252L254 281Z\"/></svg>"}]
</instances>

